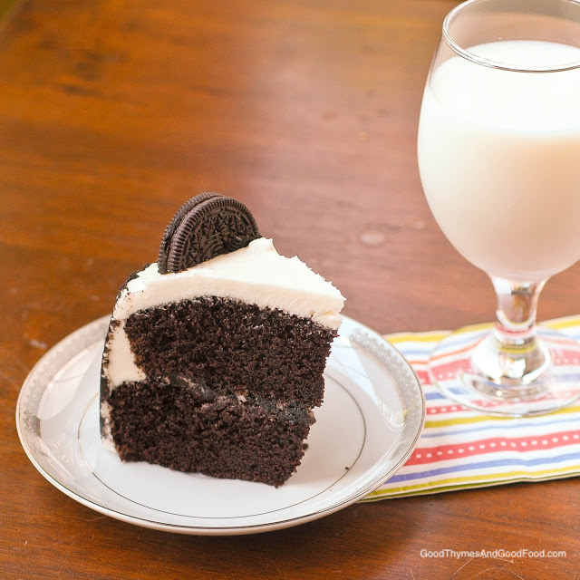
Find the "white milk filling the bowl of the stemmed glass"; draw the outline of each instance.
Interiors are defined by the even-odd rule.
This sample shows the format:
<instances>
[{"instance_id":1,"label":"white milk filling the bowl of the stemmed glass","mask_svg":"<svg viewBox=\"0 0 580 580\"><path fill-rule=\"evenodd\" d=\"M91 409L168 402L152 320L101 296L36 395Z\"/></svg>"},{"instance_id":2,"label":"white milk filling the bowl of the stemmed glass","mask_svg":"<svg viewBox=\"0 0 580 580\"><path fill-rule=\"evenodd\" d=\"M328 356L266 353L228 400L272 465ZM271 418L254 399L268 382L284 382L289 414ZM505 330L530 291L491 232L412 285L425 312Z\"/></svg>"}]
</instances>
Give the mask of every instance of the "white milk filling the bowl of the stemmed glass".
<instances>
[{"instance_id":1,"label":"white milk filling the bowl of the stemmed glass","mask_svg":"<svg viewBox=\"0 0 580 580\"><path fill-rule=\"evenodd\" d=\"M539 41L469 52L519 66L580 62ZM580 70L507 72L459 56L431 75L420 178L449 241L488 274L537 281L580 258Z\"/></svg>"}]
</instances>

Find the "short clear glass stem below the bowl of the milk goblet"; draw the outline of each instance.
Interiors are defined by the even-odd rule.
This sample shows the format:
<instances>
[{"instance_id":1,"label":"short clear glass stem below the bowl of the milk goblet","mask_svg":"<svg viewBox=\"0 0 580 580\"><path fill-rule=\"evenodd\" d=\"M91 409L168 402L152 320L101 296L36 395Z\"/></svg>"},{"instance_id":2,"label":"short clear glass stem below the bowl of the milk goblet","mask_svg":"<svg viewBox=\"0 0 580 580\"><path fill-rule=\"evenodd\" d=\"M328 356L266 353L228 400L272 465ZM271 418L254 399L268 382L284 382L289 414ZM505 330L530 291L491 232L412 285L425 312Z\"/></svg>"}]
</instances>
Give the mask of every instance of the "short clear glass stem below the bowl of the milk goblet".
<instances>
[{"instance_id":1,"label":"short clear glass stem below the bowl of the milk goblet","mask_svg":"<svg viewBox=\"0 0 580 580\"><path fill-rule=\"evenodd\" d=\"M536 381L549 364L546 349L536 339L536 308L546 280L514 282L490 276L498 297L493 349L498 368L488 373L494 382L529 384ZM495 375L495 376L494 376Z\"/></svg>"}]
</instances>

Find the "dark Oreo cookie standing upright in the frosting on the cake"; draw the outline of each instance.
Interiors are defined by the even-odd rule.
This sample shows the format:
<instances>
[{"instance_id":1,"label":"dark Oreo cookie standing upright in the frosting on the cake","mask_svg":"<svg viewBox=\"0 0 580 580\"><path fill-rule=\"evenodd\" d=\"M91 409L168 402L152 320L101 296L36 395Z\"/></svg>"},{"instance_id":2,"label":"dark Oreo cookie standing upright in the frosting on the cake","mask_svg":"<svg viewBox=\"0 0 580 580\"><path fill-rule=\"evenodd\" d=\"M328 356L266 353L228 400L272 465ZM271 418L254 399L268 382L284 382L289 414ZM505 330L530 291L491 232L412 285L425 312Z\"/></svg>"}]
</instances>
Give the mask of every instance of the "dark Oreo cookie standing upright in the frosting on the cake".
<instances>
[{"instance_id":1,"label":"dark Oreo cookie standing upright in the frosting on the cake","mask_svg":"<svg viewBox=\"0 0 580 580\"><path fill-rule=\"evenodd\" d=\"M177 211L161 239L161 274L177 273L246 247L260 237L256 219L237 199L202 193Z\"/></svg>"}]
</instances>

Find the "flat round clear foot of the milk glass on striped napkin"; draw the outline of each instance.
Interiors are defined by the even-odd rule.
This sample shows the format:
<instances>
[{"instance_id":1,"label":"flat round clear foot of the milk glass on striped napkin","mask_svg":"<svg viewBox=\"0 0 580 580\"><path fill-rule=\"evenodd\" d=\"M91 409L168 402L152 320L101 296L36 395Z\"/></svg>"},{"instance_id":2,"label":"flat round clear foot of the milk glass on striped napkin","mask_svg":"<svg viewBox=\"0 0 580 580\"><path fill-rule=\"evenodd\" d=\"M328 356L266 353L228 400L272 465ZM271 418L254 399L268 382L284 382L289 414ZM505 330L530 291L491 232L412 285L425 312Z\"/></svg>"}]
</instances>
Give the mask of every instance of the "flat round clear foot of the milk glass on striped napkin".
<instances>
[{"instance_id":1,"label":"flat round clear foot of the milk glass on striped napkin","mask_svg":"<svg viewBox=\"0 0 580 580\"><path fill-rule=\"evenodd\" d=\"M537 328L537 339L546 357L539 372L524 380L499 377L479 370L488 368L493 327L462 328L431 353L430 380L452 401L488 415L525 417L557 411L580 398L580 343L547 327Z\"/></svg>"}]
</instances>

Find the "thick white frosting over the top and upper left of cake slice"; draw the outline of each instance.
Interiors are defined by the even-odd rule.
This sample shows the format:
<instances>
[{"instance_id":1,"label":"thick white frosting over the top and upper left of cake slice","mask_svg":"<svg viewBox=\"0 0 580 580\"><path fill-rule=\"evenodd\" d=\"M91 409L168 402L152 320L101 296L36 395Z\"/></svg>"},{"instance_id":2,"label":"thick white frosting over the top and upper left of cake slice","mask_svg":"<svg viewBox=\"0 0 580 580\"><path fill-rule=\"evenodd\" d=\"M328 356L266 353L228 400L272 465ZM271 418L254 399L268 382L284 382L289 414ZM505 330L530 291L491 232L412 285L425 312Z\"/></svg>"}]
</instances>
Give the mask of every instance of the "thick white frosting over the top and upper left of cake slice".
<instances>
[{"instance_id":1,"label":"thick white frosting over the top and upper left of cake slice","mask_svg":"<svg viewBox=\"0 0 580 580\"><path fill-rule=\"evenodd\" d=\"M115 304L113 318L121 324L111 335L106 371L111 386L145 378L133 362L124 332L124 321L131 314L208 295L277 308L333 329L341 324L339 313L344 304L343 295L330 282L297 257L280 256L272 240L264 237L177 274L161 275L157 264L152 264L123 288Z\"/></svg>"}]
</instances>

